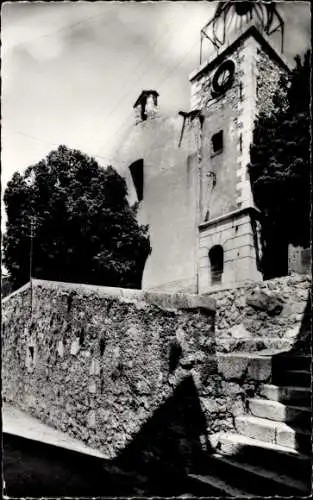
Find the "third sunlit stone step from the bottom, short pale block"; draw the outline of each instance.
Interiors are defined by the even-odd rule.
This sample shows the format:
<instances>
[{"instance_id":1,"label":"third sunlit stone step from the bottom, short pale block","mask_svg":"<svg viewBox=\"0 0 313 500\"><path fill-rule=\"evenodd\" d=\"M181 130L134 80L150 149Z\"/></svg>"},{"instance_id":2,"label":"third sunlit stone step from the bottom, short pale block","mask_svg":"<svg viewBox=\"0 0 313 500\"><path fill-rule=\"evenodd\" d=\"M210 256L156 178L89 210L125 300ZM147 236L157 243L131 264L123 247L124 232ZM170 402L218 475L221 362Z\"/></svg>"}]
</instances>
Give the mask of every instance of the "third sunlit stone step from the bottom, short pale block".
<instances>
[{"instance_id":1,"label":"third sunlit stone step from the bottom, short pale block","mask_svg":"<svg viewBox=\"0 0 313 500\"><path fill-rule=\"evenodd\" d=\"M248 399L248 411L255 417L267 418L276 422L288 422L309 429L311 424L311 408L291 406L270 401L268 399Z\"/></svg>"}]
</instances>

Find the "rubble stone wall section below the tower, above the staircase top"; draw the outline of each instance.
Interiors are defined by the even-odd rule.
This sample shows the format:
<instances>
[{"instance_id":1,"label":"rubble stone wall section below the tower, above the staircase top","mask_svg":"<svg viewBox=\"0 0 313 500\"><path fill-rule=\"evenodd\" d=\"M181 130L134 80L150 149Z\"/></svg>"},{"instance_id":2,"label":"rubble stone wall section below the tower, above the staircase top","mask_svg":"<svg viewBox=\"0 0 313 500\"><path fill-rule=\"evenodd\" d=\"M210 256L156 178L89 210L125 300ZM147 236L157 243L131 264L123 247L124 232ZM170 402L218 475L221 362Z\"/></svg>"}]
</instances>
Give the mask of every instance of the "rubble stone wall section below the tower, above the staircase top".
<instances>
[{"instance_id":1,"label":"rubble stone wall section below the tower, above the staircase top","mask_svg":"<svg viewBox=\"0 0 313 500\"><path fill-rule=\"evenodd\" d=\"M217 351L292 348L299 340L310 288L309 275L295 274L206 294L216 300Z\"/></svg>"}]
</instances>

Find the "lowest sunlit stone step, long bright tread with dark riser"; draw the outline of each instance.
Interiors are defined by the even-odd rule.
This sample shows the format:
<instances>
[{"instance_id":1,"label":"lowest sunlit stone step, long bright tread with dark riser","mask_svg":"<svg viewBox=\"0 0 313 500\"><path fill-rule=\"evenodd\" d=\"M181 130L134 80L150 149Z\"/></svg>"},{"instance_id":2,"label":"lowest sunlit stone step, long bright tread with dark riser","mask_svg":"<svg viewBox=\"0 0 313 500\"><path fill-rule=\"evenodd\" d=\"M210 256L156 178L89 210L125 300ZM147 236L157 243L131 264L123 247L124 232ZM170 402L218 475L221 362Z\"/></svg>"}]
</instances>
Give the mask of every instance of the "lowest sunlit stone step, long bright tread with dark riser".
<instances>
[{"instance_id":1,"label":"lowest sunlit stone step, long bright tread with dark riser","mask_svg":"<svg viewBox=\"0 0 313 500\"><path fill-rule=\"evenodd\" d=\"M216 451L238 462L283 474L288 470L295 479L308 480L311 477L310 456L297 450L235 433L220 433L217 439Z\"/></svg>"}]
</instances>

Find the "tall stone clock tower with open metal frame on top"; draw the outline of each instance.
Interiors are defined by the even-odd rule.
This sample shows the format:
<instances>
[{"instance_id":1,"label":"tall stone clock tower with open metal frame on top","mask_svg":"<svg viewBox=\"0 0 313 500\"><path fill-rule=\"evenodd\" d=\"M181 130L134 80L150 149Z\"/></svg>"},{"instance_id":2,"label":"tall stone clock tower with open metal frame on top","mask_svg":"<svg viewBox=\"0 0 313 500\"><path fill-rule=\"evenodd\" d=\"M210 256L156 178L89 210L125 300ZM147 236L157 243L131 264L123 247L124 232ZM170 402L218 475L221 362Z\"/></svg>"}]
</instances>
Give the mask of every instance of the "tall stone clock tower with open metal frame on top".
<instances>
[{"instance_id":1,"label":"tall stone clock tower with open metal frame on top","mask_svg":"<svg viewBox=\"0 0 313 500\"><path fill-rule=\"evenodd\" d=\"M202 115L199 293L262 280L261 214L248 164L254 122L271 112L280 78L289 72L284 24L274 3L220 2L201 30L200 67L190 75L191 109Z\"/></svg>"}]
</instances>

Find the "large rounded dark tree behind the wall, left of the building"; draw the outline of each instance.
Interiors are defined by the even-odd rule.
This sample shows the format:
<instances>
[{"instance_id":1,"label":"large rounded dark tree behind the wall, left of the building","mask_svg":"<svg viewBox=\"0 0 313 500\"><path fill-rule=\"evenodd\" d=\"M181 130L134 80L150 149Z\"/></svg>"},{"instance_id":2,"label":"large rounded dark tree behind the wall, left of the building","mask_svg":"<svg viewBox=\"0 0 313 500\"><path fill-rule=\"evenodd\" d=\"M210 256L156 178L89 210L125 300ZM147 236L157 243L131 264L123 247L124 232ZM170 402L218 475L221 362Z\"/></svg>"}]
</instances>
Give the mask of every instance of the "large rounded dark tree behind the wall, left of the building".
<instances>
[{"instance_id":1,"label":"large rounded dark tree behind the wall, left of the building","mask_svg":"<svg viewBox=\"0 0 313 500\"><path fill-rule=\"evenodd\" d=\"M35 278L140 288L148 228L126 196L111 166L65 146L15 173L4 193L3 242L15 288L29 280L30 266Z\"/></svg>"}]
</instances>

